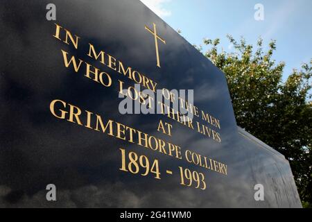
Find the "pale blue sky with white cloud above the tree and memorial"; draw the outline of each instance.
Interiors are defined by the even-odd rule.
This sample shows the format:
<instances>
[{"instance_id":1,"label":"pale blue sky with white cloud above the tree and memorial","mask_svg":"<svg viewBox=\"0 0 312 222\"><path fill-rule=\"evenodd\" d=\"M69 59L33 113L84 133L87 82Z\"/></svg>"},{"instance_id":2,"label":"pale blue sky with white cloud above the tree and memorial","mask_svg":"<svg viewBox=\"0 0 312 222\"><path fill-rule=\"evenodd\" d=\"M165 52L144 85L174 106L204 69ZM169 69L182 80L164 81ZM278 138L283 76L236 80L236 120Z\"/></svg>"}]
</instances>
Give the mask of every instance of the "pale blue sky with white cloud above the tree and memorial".
<instances>
[{"instance_id":1,"label":"pale blue sky with white cloud above the tree and memorial","mask_svg":"<svg viewBox=\"0 0 312 222\"><path fill-rule=\"evenodd\" d=\"M226 35L236 40L245 37L255 45L263 38L263 45L277 41L273 58L285 62L284 80L293 69L312 59L312 1L311 0L141 0L162 17L191 44L220 38L220 47L232 52ZM257 4L263 6L259 17ZM258 15L255 19L254 15ZM260 19L259 18L263 18Z\"/></svg>"}]
</instances>

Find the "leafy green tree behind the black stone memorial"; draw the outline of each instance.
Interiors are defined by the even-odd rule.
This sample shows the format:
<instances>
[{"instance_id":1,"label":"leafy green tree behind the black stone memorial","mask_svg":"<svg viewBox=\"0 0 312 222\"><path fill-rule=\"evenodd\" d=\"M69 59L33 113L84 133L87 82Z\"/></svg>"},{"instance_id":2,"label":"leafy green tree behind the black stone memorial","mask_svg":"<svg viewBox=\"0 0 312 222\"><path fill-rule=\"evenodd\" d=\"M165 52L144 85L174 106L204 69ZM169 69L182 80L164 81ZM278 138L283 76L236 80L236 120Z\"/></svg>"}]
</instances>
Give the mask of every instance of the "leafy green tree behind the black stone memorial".
<instances>
[{"instance_id":1,"label":"leafy green tree behind the black stone memorial","mask_svg":"<svg viewBox=\"0 0 312 222\"><path fill-rule=\"evenodd\" d=\"M220 40L204 40L204 55L226 75L236 121L255 137L275 148L291 164L300 198L305 207L312 206L312 60L293 70L282 82L285 64L272 59L276 42L263 50L236 42L230 35L234 53L219 51ZM202 46L196 46L202 51Z\"/></svg>"}]
</instances>

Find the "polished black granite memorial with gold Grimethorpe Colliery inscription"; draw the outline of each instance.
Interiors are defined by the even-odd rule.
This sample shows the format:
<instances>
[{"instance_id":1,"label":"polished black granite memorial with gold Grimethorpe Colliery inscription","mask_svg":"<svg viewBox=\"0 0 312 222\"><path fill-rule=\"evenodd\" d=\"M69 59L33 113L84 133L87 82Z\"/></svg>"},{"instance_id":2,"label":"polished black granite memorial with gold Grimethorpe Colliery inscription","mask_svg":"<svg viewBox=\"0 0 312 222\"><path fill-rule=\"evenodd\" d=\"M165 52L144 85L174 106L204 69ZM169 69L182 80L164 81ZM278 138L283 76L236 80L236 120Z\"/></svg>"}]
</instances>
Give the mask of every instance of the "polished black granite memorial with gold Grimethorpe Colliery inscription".
<instances>
[{"instance_id":1,"label":"polished black granite memorial with gold Grimethorpe Colliery inscription","mask_svg":"<svg viewBox=\"0 0 312 222\"><path fill-rule=\"evenodd\" d=\"M302 207L225 75L143 3L49 3L0 5L0 207Z\"/></svg>"}]
</instances>

